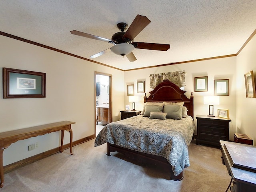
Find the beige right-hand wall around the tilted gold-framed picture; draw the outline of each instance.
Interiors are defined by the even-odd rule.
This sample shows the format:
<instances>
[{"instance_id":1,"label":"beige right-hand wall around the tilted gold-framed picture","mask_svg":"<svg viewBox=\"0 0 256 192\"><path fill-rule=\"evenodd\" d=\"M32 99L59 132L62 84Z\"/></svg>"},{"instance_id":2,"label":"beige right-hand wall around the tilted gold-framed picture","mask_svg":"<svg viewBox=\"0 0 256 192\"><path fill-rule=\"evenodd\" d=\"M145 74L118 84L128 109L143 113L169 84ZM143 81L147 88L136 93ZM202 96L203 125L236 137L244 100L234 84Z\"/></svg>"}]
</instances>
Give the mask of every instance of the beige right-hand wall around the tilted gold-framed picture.
<instances>
[{"instance_id":1,"label":"beige right-hand wall around the tilted gold-framed picture","mask_svg":"<svg viewBox=\"0 0 256 192\"><path fill-rule=\"evenodd\" d=\"M250 71L254 72L254 79L256 77L256 36L238 54L236 60L237 132L248 134L256 145L256 98L246 98L244 80L244 74Z\"/></svg>"}]
</instances>

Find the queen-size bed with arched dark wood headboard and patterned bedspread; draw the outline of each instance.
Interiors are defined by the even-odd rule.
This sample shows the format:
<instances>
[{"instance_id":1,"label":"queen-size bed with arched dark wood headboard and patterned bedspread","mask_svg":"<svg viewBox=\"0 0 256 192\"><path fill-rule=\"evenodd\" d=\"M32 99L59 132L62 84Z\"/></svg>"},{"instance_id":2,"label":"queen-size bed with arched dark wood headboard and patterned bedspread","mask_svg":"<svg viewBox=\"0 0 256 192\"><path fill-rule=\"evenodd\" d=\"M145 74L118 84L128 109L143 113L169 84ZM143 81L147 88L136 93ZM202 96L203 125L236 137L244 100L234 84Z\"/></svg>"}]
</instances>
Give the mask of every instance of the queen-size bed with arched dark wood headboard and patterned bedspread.
<instances>
[{"instance_id":1,"label":"queen-size bed with arched dark wood headboard and patterned bedspread","mask_svg":"<svg viewBox=\"0 0 256 192\"><path fill-rule=\"evenodd\" d=\"M182 180L184 168L190 165L188 147L195 129L194 97L191 93L190 98L187 98L185 92L165 80L149 92L148 98L145 94L142 114L104 126L94 146L107 143L108 156L110 152L117 151L132 160L157 164L169 170L170 180ZM152 110L158 105L163 105L162 112ZM185 114L182 113L182 118L180 115L174 119L168 117L168 107L178 108L180 113L180 106L187 109Z\"/></svg>"}]
</instances>

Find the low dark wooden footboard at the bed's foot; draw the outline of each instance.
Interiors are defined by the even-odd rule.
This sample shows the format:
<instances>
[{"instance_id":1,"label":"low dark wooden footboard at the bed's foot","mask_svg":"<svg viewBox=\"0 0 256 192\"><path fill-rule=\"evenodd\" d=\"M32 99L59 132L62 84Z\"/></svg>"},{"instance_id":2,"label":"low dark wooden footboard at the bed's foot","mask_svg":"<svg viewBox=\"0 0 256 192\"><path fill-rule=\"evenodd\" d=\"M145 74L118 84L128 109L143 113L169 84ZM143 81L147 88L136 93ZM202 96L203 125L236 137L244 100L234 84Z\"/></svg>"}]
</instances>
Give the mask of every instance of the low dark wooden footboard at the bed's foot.
<instances>
[{"instance_id":1,"label":"low dark wooden footboard at the bed's foot","mask_svg":"<svg viewBox=\"0 0 256 192\"><path fill-rule=\"evenodd\" d=\"M183 179L182 172L178 176L174 176L174 172L172 171L172 165L166 160L166 158L157 155L151 155L147 153L138 152L135 150L130 150L124 147L120 147L115 144L111 144L107 142L107 152L106 154L110 156L110 152L120 152L124 154L131 160L136 160L138 162L149 163L149 164L157 164L170 171L170 180L180 181Z\"/></svg>"}]
</instances>

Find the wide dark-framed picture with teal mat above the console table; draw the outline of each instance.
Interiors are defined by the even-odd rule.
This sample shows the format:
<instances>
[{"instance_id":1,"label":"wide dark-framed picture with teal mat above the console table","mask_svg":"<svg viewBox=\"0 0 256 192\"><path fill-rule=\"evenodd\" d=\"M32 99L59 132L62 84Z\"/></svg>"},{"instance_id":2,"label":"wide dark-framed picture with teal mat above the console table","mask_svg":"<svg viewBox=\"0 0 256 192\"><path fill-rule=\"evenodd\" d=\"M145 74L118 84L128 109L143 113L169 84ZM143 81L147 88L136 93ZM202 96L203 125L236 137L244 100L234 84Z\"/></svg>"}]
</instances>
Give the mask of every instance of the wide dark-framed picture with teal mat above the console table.
<instances>
[{"instance_id":1,"label":"wide dark-framed picture with teal mat above the console table","mask_svg":"<svg viewBox=\"0 0 256 192\"><path fill-rule=\"evenodd\" d=\"M3 68L3 98L45 97L46 74Z\"/></svg>"}]
</instances>

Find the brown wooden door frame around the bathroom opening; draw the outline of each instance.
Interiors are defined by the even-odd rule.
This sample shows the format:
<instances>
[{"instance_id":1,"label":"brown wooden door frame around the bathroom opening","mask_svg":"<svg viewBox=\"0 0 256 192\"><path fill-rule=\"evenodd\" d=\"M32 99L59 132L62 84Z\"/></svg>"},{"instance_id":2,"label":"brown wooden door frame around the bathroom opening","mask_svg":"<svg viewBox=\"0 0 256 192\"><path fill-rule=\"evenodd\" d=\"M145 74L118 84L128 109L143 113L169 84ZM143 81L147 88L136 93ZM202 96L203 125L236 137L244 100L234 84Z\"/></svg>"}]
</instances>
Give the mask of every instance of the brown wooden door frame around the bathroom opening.
<instances>
[{"instance_id":1,"label":"brown wooden door frame around the bathroom opening","mask_svg":"<svg viewBox=\"0 0 256 192\"><path fill-rule=\"evenodd\" d=\"M107 73L102 73L102 72L97 72L95 71L94 74L94 116L95 116L95 130L94 134L96 136L96 121L97 121L97 116L96 116L96 75L103 75L103 76L108 76L108 123L111 123L113 121L113 116L112 116L112 75L107 74Z\"/></svg>"}]
</instances>

